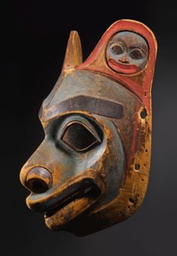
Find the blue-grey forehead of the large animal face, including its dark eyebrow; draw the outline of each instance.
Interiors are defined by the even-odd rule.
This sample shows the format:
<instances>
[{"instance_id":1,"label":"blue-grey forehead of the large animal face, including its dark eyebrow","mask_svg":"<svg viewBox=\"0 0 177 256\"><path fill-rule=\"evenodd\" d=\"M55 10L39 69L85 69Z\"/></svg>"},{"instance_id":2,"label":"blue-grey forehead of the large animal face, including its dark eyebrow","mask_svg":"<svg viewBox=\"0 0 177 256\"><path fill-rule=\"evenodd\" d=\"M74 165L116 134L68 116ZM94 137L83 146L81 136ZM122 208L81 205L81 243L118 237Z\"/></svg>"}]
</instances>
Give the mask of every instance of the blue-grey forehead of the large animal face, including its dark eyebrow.
<instances>
[{"instance_id":1,"label":"blue-grey forehead of the large animal face, including its dark eyebrow","mask_svg":"<svg viewBox=\"0 0 177 256\"><path fill-rule=\"evenodd\" d=\"M43 101L40 119L48 121L71 111L122 119L138 99L119 83L89 71L73 71L56 83Z\"/></svg>"}]
</instances>

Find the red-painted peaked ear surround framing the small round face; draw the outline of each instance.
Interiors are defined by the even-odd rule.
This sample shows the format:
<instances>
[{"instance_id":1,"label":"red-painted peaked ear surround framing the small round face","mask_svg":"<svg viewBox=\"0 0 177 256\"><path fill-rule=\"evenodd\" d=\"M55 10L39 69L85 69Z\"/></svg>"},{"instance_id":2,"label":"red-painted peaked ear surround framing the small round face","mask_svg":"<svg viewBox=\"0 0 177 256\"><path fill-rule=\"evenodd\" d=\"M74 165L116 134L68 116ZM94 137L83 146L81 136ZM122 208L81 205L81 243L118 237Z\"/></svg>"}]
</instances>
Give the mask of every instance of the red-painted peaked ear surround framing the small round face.
<instances>
[{"instance_id":1,"label":"red-painted peaked ear surround framing the small round face","mask_svg":"<svg viewBox=\"0 0 177 256\"><path fill-rule=\"evenodd\" d=\"M113 71L106 61L107 43L117 32L130 31L141 35L148 43L148 62L145 69L137 74L118 74ZM151 81L154 74L157 44L153 32L142 23L134 20L118 20L104 33L91 55L77 67L79 70L95 71L121 82L127 89L137 95L150 112Z\"/></svg>"}]
</instances>

